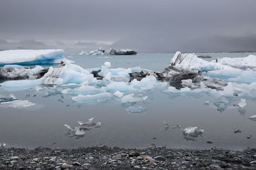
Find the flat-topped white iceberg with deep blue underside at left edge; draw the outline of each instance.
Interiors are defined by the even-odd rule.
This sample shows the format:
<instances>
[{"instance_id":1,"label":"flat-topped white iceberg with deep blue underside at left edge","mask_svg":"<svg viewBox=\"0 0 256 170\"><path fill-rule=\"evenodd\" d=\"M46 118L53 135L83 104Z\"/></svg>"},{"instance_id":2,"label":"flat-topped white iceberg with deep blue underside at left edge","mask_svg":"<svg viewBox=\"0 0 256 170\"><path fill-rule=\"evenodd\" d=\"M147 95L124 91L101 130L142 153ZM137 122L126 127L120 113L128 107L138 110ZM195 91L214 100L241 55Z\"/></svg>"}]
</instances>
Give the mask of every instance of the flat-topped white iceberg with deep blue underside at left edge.
<instances>
[{"instance_id":1,"label":"flat-topped white iceberg with deep blue underside at left edge","mask_svg":"<svg viewBox=\"0 0 256 170\"><path fill-rule=\"evenodd\" d=\"M0 52L0 66L6 64L32 65L56 64L63 57L63 50L5 50Z\"/></svg>"}]
</instances>

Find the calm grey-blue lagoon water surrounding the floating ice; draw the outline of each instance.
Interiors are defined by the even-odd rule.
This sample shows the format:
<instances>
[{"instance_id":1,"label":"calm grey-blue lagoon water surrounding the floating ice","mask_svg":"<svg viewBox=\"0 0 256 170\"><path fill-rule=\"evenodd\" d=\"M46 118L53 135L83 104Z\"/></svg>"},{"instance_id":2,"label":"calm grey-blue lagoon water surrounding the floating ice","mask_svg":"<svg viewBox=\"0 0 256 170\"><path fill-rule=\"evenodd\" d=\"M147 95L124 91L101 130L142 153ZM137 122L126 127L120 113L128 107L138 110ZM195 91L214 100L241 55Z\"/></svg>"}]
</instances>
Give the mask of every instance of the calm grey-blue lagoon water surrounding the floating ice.
<instances>
[{"instance_id":1,"label":"calm grey-blue lagoon water surrounding the floating ice","mask_svg":"<svg viewBox=\"0 0 256 170\"><path fill-rule=\"evenodd\" d=\"M206 53L216 57L246 57L249 53ZM66 55L75 64L84 67L100 67L111 62L111 68L136 67L162 71L170 63L174 53L141 53L132 56L87 56ZM197 55L203 55L201 53ZM204 53L205 55L205 53ZM45 66L46 67L46 66ZM37 146L77 148L80 146L119 146L125 148L147 148L167 146L170 148L231 148L255 147L256 122L248 117L255 115L255 99L246 98L243 109L236 106L241 97L228 99L228 107L218 110L213 104L218 97L203 95L175 96L159 92L159 89L145 92L148 99L137 104L147 111L130 113L119 99L106 103L77 104L70 97L60 93L45 96L36 90L8 92L19 100L29 100L35 106L27 108L0 107L0 142L6 146L35 148ZM209 105L204 104L209 101ZM101 122L99 128L86 131L83 138L67 135L64 124L76 127L77 121L86 122L94 117ZM164 121L170 127L164 131ZM181 125L173 129L174 125ZM188 141L182 134L186 127L204 129L203 136ZM234 129L242 132L234 133ZM252 138L246 137L252 135ZM207 143L212 141L212 144ZM152 145L154 144L154 145Z\"/></svg>"}]
</instances>

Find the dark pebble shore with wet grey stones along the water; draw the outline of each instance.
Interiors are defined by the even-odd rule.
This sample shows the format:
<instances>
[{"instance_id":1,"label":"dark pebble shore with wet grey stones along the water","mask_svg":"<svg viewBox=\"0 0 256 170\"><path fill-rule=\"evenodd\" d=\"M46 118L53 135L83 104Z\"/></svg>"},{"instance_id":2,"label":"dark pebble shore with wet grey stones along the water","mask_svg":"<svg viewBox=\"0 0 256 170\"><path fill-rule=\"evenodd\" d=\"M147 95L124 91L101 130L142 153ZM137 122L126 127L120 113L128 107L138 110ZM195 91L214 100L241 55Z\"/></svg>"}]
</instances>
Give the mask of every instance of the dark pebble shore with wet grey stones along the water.
<instances>
[{"instance_id":1,"label":"dark pebble shore with wet grey stones along the water","mask_svg":"<svg viewBox=\"0 0 256 170\"><path fill-rule=\"evenodd\" d=\"M2 147L0 169L256 169L256 149Z\"/></svg>"}]
</instances>

